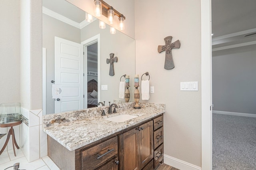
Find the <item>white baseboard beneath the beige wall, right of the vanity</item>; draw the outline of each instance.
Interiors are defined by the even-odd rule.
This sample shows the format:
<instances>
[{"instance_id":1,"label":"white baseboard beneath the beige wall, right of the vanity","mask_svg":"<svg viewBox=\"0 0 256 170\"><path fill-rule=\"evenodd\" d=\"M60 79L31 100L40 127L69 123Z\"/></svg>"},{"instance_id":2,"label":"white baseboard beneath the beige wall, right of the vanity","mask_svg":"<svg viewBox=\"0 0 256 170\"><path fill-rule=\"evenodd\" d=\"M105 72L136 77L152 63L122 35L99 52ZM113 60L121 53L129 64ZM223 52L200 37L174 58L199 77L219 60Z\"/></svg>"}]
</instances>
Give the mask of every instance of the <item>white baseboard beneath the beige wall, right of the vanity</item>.
<instances>
[{"instance_id":1,"label":"white baseboard beneath the beige wall, right of the vanity","mask_svg":"<svg viewBox=\"0 0 256 170\"><path fill-rule=\"evenodd\" d=\"M164 154L164 163L180 170L202 170L201 167L190 164L183 160L176 159L172 156Z\"/></svg>"}]
</instances>

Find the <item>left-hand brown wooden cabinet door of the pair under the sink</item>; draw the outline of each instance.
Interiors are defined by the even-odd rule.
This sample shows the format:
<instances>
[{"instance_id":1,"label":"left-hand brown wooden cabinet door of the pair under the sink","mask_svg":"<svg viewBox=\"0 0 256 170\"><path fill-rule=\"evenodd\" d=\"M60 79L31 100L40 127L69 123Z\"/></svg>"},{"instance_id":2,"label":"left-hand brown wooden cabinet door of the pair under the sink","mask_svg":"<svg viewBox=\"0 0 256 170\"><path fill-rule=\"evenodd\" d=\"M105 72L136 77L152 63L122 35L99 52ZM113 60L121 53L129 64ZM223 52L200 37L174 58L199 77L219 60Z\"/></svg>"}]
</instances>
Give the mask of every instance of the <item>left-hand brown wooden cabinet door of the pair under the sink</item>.
<instances>
[{"instance_id":1,"label":"left-hand brown wooden cabinet door of the pair under the sink","mask_svg":"<svg viewBox=\"0 0 256 170\"><path fill-rule=\"evenodd\" d=\"M120 170L139 170L139 131L129 130L119 136Z\"/></svg>"}]
</instances>

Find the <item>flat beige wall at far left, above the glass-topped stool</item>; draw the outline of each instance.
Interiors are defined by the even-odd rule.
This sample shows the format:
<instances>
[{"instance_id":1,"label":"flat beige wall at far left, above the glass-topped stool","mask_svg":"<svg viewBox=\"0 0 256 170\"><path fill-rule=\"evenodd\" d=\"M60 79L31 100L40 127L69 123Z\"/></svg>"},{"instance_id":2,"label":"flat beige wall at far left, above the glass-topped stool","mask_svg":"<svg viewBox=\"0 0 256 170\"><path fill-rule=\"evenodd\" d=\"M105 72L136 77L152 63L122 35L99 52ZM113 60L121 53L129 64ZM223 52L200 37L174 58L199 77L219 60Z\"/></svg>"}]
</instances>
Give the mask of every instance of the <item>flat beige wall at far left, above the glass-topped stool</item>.
<instances>
[{"instance_id":1,"label":"flat beige wall at far left, above the glass-topped stool","mask_svg":"<svg viewBox=\"0 0 256 170\"><path fill-rule=\"evenodd\" d=\"M0 1L0 103L20 102L20 3Z\"/></svg>"}]
</instances>

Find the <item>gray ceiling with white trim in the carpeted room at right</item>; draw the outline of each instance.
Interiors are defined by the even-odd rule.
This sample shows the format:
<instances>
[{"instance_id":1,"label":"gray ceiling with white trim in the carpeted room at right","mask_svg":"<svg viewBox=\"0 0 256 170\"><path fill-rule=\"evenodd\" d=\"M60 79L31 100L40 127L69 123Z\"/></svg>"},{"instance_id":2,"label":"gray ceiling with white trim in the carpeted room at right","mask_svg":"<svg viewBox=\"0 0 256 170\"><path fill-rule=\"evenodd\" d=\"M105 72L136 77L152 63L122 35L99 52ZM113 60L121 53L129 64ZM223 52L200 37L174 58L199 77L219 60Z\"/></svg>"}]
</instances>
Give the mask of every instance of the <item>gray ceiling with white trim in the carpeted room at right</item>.
<instances>
[{"instance_id":1,"label":"gray ceiling with white trim in the carpeted room at right","mask_svg":"<svg viewBox=\"0 0 256 170\"><path fill-rule=\"evenodd\" d=\"M256 0L212 0L212 33L212 48L255 44Z\"/></svg>"}]
</instances>

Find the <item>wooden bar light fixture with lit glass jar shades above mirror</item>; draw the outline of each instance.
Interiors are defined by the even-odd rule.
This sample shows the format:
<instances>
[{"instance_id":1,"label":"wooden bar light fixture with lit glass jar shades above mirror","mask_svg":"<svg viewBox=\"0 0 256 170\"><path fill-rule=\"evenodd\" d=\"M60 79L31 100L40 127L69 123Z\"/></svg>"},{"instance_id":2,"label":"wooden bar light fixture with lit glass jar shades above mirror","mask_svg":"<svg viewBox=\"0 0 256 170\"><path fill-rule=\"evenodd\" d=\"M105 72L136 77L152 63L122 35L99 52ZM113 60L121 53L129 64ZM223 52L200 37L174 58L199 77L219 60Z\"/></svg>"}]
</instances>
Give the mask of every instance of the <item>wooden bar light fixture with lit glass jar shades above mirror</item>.
<instances>
[{"instance_id":1,"label":"wooden bar light fixture with lit glass jar shades above mirror","mask_svg":"<svg viewBox=\"0 0 256 170\"><path fill-rule=\"evenodd\" d=\"M97 4L100 4L100 6L101 6L101 14L108 18L108 20L110 21L110 24L113 24L115 16L118 16L118 19L120 21L119 22L120 30L124 30L125 16L123 14L121 14L120 12L115 10L112 6L110 6L109 4L104 2L103 0L94 0L94 4L96 6L97 6ZM96 12L97 11L99 11L99 10L96 10ZM97 16L97 13L96 13L96 16Z\"/></svg>"}]
</instances>

